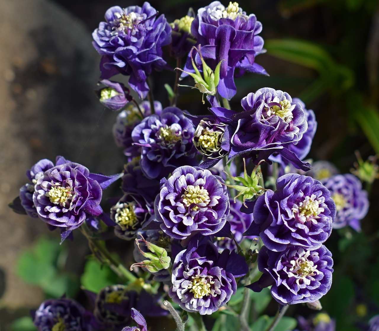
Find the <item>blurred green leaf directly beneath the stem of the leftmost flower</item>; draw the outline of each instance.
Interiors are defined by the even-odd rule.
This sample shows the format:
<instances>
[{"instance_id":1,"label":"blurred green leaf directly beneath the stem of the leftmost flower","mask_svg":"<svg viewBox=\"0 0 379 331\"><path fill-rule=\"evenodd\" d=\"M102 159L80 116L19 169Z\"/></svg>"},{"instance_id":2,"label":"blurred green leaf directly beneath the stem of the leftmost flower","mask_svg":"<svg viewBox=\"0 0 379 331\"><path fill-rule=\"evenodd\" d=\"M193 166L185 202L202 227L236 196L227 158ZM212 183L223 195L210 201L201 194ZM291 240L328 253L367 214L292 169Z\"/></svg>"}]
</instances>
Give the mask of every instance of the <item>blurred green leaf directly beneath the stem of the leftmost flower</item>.
<instances>
[{"instance_id":1,"label":"blurred green leaf directly beneath the stem of the leftmost flower","mask_svg":"<svg viewBox=\"0 0 379 331\"><path fill-rule=\"evenodd\" d=\"M106 286L117 284L118 277L111 268L102 266L97 260L91 259L85 264L80 283L85 289L97 293Z\"/></svg>"}]
</instances>

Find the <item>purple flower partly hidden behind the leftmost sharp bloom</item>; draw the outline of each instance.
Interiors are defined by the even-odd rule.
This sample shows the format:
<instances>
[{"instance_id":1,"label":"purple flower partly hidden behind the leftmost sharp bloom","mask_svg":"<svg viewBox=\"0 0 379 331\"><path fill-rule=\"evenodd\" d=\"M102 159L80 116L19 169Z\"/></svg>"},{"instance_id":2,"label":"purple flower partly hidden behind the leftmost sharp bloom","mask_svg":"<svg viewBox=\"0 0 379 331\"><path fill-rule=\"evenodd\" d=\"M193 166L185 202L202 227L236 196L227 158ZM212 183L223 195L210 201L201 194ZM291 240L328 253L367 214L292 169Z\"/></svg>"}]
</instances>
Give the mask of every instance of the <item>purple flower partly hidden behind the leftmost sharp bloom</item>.
<instances>
[{"instance_id":1,"label":"purple flower partly hidden behind the leftmost sharp bloom","mask_svg":"<svg viewBox=\"0 0 379 331\"><path fill-rule=\"evenodd\" d=\"M67 162L70 161L66 160L63 156L56 157L56 165L61 165ZM37 179L41 177L46 170L53 167L54 163L44 158L43 160L38 161L26 172L30 183L27 183L20 188L20 201L22 207L30 217L38 217L36 206L34 206L33 202L34 185L36 184Z\"/></svg>"}]
</instances>

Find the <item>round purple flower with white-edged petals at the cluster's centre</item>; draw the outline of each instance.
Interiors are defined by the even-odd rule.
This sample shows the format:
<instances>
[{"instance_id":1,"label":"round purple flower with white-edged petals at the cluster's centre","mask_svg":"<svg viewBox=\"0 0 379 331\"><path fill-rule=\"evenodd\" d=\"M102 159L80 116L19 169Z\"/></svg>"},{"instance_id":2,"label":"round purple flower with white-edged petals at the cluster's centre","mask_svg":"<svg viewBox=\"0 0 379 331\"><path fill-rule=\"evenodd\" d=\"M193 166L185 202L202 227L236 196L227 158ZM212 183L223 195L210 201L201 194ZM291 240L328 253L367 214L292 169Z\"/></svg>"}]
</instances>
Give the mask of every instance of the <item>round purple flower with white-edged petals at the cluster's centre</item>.
<instances>
[{"instance_id":1,"label":"round purple flower with white-edged petals at the cluster's centre","mask_svg":"<svg viewBox=\"0 0 379 331\"><path fill-rule=\"evenodd\" d=\"M215 234L229 215L229 196L224 180L209 170L181 166L161 181L154 203L161 229L175 239L194 234Z\"/></svg>"}]
</instances>

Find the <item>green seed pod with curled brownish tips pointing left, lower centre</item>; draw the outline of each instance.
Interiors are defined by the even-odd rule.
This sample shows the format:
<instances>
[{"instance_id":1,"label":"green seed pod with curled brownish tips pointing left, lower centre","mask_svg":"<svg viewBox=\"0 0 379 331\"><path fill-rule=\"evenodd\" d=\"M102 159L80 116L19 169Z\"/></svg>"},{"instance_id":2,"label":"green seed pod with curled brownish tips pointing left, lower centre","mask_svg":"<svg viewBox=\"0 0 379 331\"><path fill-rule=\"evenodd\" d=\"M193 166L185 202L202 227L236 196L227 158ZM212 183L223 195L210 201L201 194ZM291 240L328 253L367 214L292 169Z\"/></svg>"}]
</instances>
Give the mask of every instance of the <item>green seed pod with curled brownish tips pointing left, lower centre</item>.
<instances>
[{"instance_id":1,"label":"green seed pod with curled brownish tips pointing left, lower centre","mask_svg":"<svg viewBox=\"0 0 379 331\"><path fill-rule=\"evenodd\" d=\"M144 257L147 257L148 260L143 260L141 262L132 264L130 266L130 270L133 270L134 267L144 267L151 273L155 273L162 269L167 269L170 266L171 257L167 256L166 249L146 241L140 232L138 234L142 238L136 238L136 244L138 246L139 253L141 253ZM146 245L147 249L149 249L149 251L152 253L146 253L143 250L141 250L141 248L139 248L139 242L143 242Z\"/></svg>"}]
</instances>

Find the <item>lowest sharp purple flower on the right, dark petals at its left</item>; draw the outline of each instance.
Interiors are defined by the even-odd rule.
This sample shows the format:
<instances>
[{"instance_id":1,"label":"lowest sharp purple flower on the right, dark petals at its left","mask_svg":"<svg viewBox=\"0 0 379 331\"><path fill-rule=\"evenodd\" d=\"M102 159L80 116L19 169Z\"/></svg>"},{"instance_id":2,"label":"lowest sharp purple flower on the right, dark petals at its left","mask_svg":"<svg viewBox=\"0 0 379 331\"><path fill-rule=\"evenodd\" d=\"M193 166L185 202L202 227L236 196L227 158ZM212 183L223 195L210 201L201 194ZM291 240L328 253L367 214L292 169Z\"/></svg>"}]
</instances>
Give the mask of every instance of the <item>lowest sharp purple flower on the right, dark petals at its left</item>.
<instances>
[{"instance_id":1,"label":"lowest sharp purple flower on the right, dark petals at its left","mask_svg":"<svg viewBox=\"0 0 379 331\"><path fill-rule=\"evenodd\" d=\"M289 246L283 252L263 246L258 254L260 279L247 286L255 292L271 286L271 295L282 304L314 302L332 285L332 253L324 246L309 251Z\"/></svg>"}]
</instances>

